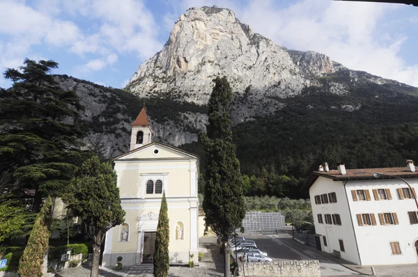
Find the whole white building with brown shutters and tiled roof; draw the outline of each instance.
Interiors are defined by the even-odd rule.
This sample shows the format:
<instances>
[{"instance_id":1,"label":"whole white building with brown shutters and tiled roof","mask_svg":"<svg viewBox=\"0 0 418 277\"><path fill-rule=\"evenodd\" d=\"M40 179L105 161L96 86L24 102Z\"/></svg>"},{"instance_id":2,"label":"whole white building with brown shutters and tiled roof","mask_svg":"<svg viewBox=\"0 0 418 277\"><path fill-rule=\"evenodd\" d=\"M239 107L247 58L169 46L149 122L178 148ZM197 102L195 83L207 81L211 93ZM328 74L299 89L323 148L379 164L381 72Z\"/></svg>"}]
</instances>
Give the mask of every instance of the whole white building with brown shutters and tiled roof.
<instances>
[{"instance_id":1,"label":"whole white building with brown shutters and tiled roof","mask_svg":"<svg viewBox=\"0 0 418 277\"><path fill-rule=\"evenodd\" d=\"M373 173L392 176L374 177ZM402 180L405 178L412 191ZM309 188L316 247L360 265L418 262L418 217L413 161L405 168L314 171Z\"/></svg>"}]
</instances>

